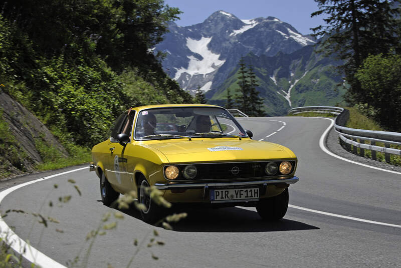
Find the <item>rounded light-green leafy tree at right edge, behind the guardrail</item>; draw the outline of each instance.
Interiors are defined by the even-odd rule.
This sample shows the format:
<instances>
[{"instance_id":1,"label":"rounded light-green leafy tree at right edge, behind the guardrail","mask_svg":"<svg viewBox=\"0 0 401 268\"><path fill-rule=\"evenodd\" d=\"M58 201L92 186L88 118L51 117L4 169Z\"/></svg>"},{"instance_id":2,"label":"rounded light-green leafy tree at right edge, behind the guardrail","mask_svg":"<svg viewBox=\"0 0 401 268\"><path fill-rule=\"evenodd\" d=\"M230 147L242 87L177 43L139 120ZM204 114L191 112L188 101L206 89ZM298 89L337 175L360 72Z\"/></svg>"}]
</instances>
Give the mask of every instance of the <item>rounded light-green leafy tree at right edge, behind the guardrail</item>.
<instances>
[{"instance_id":1,"label":"rounded light-green leafy tree at right edge, behind the guardrail","mask_svg":"<svg viewBox=\"0 0 401 268\"><path fill-rule=\"evenodd\" d=\"M389 131L401 132L401 55L369 56L357 71L370 116Z\"/></svg>"}]
</instances>

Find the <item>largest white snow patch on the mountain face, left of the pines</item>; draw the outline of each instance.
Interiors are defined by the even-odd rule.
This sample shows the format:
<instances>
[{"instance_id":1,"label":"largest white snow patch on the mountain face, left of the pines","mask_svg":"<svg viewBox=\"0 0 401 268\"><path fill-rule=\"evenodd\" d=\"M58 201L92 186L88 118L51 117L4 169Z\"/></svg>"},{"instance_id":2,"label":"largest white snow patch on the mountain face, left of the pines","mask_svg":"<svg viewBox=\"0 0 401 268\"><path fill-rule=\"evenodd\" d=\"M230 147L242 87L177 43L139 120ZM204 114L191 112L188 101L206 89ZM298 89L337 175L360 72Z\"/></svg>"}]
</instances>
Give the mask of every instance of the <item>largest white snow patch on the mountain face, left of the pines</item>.
<instances>
[{"instance_id":1,"label":"largest white snow patch on the mountain face, left of the pines","mask_svg":"<svg viewBox=\"0 0 401 268\"><path fill-rule=\"evenodd\" d=\"M212 37L202 37L200 40L186 38L186 46L193 53L202 56L202 60L198 60L193 56L187 56L189 59L188 68L177 69L174 80L178 80L181 74L187 73L190 76L202 74L205 75L214 72L226 61L219 60L220 54L214 54L208 49L208 44L212 41Z\"/></svg>"}]
</instances>

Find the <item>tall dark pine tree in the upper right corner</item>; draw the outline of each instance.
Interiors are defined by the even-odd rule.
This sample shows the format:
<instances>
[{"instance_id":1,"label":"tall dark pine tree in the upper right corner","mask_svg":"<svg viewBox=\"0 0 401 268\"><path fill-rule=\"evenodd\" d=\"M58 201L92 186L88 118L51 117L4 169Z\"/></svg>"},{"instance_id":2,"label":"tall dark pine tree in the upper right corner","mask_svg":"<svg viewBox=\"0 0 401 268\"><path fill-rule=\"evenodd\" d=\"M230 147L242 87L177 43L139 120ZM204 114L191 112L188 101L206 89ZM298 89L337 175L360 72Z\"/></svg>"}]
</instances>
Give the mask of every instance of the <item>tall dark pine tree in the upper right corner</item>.
<instances>
[{"instance_id":1,"label":"tall dark pine tree in the upper right corner","mask_svg":"<svg viewBox=\"0 0 401 268\"><path fill-rule=\"evenodd\" d=\"M321 51L334 54L343 60L340 66L350 85L347 98L350 102L364 99L355 74L363 60L371 55L388 53L399 46L396 30L399 24L396 14L399 10L392 5L399 0L315 0L319 11L311 17L327 14L327 26L313 30L315 36L323 36Z\"/></svg>"}]
</instances>

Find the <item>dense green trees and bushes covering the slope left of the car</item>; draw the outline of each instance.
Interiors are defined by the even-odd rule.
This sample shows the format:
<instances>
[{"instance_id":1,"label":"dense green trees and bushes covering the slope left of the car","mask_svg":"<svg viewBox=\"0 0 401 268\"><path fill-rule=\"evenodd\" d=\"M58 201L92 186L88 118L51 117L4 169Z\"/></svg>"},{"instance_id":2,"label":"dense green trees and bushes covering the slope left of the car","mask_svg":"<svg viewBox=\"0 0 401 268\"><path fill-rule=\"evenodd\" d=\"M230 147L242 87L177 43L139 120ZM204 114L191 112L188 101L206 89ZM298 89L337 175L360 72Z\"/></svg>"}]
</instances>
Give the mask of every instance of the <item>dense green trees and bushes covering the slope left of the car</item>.
<instances>
[{"instance_id":1,"label":"dense green trees and bushes covering the slope left of the car","mask_svg":"<svg viewBox=\"0 0 401 268\"><path fill-rule=\"evenodd\" d=\"M179 14L162 0L0 6L3 90L73 143L101 141L130 106L193 101L150 52Z\"/></svg>"}]
</instances>

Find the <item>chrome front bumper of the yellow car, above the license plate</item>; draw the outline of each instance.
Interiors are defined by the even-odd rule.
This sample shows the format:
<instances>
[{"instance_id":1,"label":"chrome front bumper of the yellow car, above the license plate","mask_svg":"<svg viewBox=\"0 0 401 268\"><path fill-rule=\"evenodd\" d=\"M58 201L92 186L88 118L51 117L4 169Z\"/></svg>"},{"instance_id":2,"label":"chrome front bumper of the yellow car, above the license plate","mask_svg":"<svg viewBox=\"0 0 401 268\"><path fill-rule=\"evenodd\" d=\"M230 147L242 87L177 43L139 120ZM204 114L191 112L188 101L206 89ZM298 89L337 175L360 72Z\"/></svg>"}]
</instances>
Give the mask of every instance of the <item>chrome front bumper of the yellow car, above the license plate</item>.
<instances>
[{"instance_id":1,"label":"chrome front bumper of the yellow car, above the license plate","mask_svg":"<svg viewBox=\"0 0 401 268\"><path fill-rule=\"evenodd\" d=\"M242 181L242 182L211 182L211 183L181 183L174 182L155 183L154 186L160 190L174 189L174 188L204 188L215 186L247 186L257 184L293 184L299 180L298 177L290 179L277 179L277 180L258 180L258 181Z\"/></svg>"}]
</instances>

